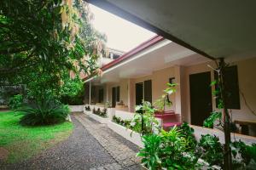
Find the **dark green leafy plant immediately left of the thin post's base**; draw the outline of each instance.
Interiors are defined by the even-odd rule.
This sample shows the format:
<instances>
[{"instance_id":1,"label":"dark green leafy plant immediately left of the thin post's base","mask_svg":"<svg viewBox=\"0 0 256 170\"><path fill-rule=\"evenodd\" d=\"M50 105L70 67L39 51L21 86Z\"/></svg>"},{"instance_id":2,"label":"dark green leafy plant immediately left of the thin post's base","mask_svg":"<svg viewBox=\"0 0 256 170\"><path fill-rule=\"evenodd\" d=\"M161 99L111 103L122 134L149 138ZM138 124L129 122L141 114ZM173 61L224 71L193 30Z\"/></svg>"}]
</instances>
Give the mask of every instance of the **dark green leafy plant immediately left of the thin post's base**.
<instances>
[{"instance_id":1,"label":"dark green leafy plant immediately left of the thin post's base","mask_svg":"<svg viewBox=\"0 0 256 170\"><path fill-rule=\"evenodd\" d=\"M210 134L201 135L199 142L201 158L207 161L211 166L224 166L224 146L219 142L218 137Z\"/></svg>"}]
</instances>

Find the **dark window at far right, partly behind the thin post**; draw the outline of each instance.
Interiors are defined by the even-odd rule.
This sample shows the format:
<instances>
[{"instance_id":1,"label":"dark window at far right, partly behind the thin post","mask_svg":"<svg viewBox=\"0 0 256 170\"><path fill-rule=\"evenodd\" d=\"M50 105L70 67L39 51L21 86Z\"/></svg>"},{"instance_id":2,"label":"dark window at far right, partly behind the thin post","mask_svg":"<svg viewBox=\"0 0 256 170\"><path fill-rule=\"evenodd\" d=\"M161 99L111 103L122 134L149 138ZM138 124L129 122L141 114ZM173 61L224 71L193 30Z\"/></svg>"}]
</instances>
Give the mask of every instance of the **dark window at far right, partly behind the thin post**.
<instances>
[{"instance_id":1,"label":"dark window at far right, partly behind the thin post","mask_svg":"<svg viewBox=\"0 0 256 170\"><path fill-rule=\"evenodd\" d=\"M214 74L215 79L218 78L217 73ZM227 91L226 106L227 109L240 109L240 96L238 86L237 66L229 66L224 73L224 88ZM218 89L218 86L215 87ZM216 99L216 107L218 107L218 98Z\"/></svg>"}]
</instances>

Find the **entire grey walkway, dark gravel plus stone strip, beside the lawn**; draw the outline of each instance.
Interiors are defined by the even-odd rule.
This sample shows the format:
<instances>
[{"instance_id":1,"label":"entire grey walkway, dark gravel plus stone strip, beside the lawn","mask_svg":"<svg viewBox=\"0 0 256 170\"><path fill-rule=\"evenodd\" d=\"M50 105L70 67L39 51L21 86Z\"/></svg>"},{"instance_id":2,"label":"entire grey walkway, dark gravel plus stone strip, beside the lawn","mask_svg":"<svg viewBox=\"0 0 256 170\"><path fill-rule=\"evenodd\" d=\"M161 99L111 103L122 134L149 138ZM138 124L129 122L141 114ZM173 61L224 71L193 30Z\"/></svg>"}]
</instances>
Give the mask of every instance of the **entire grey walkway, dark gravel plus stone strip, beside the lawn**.
<instances>
[{"instance_id":1,"label":"entire grey walkway, dark gravel plus stone strip, beside the lawn","mask_svg":"<svg viewBox=\"0 0 256 170\"><path fill-rule=\"evenodd\" d=\"M72 135L32 160L0 169L140 169L137 146L84 114L73 114Z\"/></svg>"}]
</instances>

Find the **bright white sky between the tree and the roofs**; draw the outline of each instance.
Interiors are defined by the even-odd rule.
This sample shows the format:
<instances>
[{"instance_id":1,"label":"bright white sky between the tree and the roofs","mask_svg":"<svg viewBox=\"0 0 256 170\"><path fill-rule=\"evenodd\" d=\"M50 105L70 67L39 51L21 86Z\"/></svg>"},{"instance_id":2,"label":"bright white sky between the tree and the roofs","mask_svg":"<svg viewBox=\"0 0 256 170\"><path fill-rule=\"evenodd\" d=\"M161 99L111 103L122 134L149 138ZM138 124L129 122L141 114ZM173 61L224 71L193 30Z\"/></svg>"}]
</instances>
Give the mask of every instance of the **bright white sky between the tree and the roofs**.
<instances>
[{"instance_id":1,"label":"bright white sky between the tree and the roofs","mask_svg":"<svg viewBox=\"0 0 256 170\"><path fill-rule=\"evenodd\" d=\"M97 31L105 33L108 37L108 48L128 52L155 35L151 31L110 14L92 4L90 4L90 10L94 14L93 26Z\"/></svg>"}]
</instances>

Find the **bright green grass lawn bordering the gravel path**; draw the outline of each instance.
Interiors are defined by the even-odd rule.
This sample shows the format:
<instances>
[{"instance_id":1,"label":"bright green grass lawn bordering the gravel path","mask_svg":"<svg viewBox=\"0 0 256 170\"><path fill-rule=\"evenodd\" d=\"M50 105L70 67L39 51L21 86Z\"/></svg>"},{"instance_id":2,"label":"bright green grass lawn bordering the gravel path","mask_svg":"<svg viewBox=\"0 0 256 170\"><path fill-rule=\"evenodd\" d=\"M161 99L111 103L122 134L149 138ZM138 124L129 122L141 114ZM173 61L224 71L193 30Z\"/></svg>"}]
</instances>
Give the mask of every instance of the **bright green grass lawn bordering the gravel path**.
<instances>
[{"instance_id":1,"label":"bright green grass lawn bordering the gravel path","mask_svg":"<svg viewBox=\"0 0 256 170\"><path fill-rule=\"evenodd\" d=\"M13 111L0 112L0 147L8 150L7 163L22 161L67 139L73 124L63 122L58 125L23 127L20 116Z\"/></svg>"}]
</instances>

